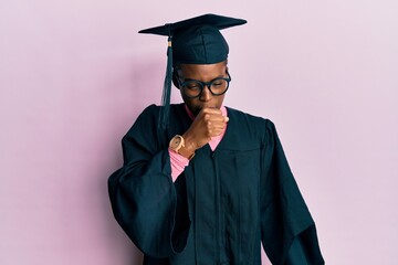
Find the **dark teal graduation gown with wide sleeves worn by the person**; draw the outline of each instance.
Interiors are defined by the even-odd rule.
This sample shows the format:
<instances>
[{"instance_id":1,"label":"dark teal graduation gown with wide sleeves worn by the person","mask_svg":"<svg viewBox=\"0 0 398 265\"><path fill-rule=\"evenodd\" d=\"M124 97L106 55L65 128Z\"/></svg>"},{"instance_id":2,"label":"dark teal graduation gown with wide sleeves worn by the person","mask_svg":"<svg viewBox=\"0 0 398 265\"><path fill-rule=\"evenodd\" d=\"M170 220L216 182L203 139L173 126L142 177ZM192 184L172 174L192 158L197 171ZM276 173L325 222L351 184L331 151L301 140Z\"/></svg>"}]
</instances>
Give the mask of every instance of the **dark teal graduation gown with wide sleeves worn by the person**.
<instances>
[{"instance_id":1,"label":"dark teal graduation gown with wide sleeves worn by the person","mask_svg":"<svg viewBox=\"0 0 398 265\"><path fill-rule=\"evenodd\" d=\"M124 165L108 179L115 219L145 265L324 264L314 221L269 119L227 108L227 131L196 151L175 182L168 141L192 120L170 105L160 135L151 105L122 140Z\"/></svg>"}]
</instances>

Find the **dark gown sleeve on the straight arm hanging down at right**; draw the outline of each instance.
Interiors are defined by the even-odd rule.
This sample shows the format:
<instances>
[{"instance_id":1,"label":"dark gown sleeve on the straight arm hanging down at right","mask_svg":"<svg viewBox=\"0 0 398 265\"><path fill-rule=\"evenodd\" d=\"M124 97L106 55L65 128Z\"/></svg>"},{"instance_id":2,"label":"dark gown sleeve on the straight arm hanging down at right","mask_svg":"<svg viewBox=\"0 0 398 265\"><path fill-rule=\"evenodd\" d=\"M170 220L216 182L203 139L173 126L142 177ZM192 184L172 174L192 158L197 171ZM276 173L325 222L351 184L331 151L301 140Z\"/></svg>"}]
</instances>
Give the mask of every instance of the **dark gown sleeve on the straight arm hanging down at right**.
<instances>
[{"instance_id":1,"label":"dark gown sleeve on the straight arm hanging down at right","mask_svg":"<svg viewBox=\"0 0 398 265\"><path fill-rule=\"evenodd\" d=\"M315 223L270 120L266 120L262 147L260 194L261 237L272 264L324 264Z\"/></svg>"}]
</instances>

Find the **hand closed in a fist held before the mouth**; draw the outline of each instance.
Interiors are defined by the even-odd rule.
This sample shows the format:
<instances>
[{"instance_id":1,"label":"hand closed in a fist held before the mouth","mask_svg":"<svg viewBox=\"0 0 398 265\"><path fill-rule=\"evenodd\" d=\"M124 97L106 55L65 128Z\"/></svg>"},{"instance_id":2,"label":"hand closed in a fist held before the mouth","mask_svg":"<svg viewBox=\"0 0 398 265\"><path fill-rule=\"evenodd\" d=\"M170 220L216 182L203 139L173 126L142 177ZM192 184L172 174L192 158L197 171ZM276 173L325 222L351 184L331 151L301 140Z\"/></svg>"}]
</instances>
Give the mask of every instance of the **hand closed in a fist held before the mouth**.
<instances>
[{"instance_id":1,"label":"hand closed in a fist held before the mouth","mask_svg":"<svg viewBox=\"0 0 398 265\"><path fill-rule=\"evenodd\" d=\"M196 116L189 129L182 135L185 148L195 152L216 137L222 134L229 118L222 116L218 108L202 108Z\"/></svg>"}]
</instances>

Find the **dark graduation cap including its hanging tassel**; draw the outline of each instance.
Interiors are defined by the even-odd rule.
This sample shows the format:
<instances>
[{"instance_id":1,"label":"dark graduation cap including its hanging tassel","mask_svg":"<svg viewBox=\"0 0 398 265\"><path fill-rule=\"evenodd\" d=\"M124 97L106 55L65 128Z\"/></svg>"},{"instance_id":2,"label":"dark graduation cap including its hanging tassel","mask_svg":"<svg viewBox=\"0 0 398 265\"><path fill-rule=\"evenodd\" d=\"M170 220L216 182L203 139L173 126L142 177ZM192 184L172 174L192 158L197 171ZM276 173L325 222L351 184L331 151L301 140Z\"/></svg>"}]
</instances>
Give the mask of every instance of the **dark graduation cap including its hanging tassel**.
<instances>
[{"instance_id":1,"label":"dark graduation cap including its hanging tassel","mask_svg":"<svg viewBox=\"0 0 398 265\"><path fill-rule=\"evenodd\" d=\"M158 126L160 129L168 127L172 67L179 64L214 64L226 61L229 47L220 30L244 23L247 21L242 19L203 14L138 32L168 36L167 70Z\"/></svg>"}]
</instances>

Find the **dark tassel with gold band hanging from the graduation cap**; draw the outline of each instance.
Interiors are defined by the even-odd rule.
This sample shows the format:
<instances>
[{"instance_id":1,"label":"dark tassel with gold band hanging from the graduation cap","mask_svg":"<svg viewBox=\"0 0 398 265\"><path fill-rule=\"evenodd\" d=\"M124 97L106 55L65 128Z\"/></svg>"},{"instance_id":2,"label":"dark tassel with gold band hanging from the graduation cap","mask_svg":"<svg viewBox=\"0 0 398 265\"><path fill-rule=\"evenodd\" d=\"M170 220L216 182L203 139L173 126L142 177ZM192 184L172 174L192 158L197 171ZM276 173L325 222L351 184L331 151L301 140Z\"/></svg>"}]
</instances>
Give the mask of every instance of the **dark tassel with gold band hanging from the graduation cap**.
<instances>
[{"instance_id":1,"label":"dark tassel with gold band hanging from the graduation cap","mask_svg":"<svg viewBox=\"0 0 398 265\"><path fill-rule=\"evenodd\" d=\"M172 81L172 49L171 49L171 33L170 25L168 24L169 36L168 36L168 46L167 46L167 66L166 66L166 77L164 83L164 91L161 95L161 107L159 115L159 135L164 135L168 129L169 125L169 113L170 113L170 94L171 94L171 81Z\"/></svg>"}]
</instances>

